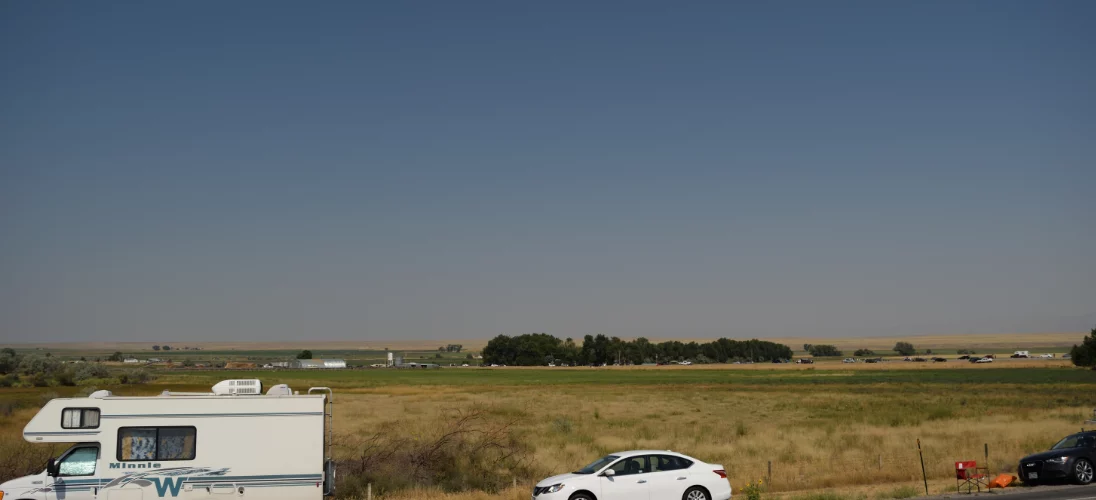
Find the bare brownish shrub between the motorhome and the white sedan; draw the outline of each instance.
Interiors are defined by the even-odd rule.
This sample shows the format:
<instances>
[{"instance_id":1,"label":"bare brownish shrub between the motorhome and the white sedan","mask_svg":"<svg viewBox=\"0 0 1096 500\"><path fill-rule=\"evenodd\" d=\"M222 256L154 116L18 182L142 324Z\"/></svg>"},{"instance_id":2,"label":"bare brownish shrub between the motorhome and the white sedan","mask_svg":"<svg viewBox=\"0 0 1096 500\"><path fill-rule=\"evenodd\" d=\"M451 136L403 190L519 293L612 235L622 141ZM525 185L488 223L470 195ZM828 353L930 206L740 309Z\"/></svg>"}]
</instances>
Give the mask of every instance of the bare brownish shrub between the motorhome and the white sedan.
<instances>
[{"instance_id":1,"label":"bare brownish shrub between the motorhome and the white sedan","mask_svg":"<svg viewBox=\"0 0 1096 500\"><path fill-rule=\"evenodd\" d=\"M444 416L434 432L421 436L384 429L341 436L338 445L350 456L339 463L339 497L361 497L368 482L377 493L412 487L499 491L532 471L529 450L514 423L493 421L477 407Z\"/></svg>"}]
</instances>

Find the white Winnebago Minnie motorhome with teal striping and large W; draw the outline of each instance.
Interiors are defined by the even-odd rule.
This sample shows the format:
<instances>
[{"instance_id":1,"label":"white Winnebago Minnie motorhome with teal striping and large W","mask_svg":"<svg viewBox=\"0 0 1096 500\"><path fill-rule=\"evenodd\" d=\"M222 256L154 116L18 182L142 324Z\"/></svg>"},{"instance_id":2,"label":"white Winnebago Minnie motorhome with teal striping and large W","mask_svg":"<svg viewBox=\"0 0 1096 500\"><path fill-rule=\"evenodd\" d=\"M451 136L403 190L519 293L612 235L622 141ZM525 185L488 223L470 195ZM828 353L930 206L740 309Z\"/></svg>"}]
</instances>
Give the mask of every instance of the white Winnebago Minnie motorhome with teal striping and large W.
<instances>
[{"instance_id":1,"label":"white Winnebago Minnie motorhome with teal striping and large W","mask_svg":"<svg viewBox=\"0 0 1096 500\"><path fill-rule=\"evenodd\" d=\"M213 393L54 399L23 439L78 444L45 471L0 485L0 499L322 499L334 493L332 396L285 385L264 395L260 380L242 379Z\"/></svg>"}]
</instances>

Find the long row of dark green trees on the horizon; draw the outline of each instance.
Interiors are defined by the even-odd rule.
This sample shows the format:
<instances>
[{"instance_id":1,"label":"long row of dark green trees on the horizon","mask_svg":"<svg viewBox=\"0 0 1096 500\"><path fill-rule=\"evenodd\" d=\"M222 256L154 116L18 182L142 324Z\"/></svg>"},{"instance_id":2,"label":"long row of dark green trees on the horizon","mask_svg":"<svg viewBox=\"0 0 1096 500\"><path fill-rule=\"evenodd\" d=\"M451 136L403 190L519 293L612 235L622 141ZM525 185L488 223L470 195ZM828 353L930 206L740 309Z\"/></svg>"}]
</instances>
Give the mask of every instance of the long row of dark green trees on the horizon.
<instances>
[{"instance_id":1,"label":"long row of dark green trees on the horizon","mask_svg":"<svg viewBox=\"0 0 1096 500\"><path fill-rule=\"evenodd\" d=\"M582 343L560 340L548 333L499 336L483 349L484 364L541 366L549 363L571 365L644 364L692 361L728 363L790 360L791 348L763 340L719 339L712 342L667 341L654 343L646 338L621 340L604 334L585 336Z\"/></svg>"}]
</instances>

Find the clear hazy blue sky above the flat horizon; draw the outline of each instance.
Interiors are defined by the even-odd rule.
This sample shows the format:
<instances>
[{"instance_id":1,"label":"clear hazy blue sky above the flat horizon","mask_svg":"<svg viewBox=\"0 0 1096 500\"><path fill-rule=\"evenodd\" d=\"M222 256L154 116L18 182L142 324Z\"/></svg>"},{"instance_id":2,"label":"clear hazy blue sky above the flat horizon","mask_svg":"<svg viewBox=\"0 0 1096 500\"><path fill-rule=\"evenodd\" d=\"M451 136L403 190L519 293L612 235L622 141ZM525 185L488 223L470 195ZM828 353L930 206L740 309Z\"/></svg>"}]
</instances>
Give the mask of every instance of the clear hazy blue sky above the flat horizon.
<instances>
[{"instance_id":1,"label":"clear hazy blue sky above the flat horizon","mask_svg":"<svg viewBox=\"0 0 1096 500\"><path fill-rule=\"evenodd\" d=\"M0 340L1081 330L1096 2L0 2Z\"/></svg>"}]
</instances>

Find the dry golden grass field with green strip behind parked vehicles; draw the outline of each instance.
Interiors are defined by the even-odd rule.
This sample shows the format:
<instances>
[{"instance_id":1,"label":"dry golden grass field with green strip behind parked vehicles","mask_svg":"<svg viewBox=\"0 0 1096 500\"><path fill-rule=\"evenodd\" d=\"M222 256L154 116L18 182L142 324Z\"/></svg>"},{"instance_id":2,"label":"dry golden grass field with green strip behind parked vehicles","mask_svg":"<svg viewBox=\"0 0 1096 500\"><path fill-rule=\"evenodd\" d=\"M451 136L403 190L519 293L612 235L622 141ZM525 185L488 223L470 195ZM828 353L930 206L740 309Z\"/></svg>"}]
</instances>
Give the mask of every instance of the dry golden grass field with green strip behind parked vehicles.
<instances>
[{"instance_id":1,"label":"dry golden grass field with green strip behind parked vehicles","mask_svg":"<svg viewBox=\"0 0 1096 500\"><path fill-rule=\"evenodd\" d=\"M378 370L248 376L295 388L335 387L336 452L347 464L376 458L369 446L413 448L436 442L459 416L469 413L479 419L472 431L496 432L520 454L520 470L456 464L449 482L431 478L418 486L406 481L386 486L381 478L375 484L376 497L391 500L525 499L541 477L627 448L674 450L723 464L735 488L766 477L772 462L767 498L808 498L821 491L832 492L832 498L905 498L923 491L918 439L931 488L940 492L950 484L952 462L982 461L989 444L991 470L1011 471L1020 456L1080 430L1096 407L1096 372L1061 362L947 365ZM153 384L116 390L195 390L239 376L164 372ZM0 404L14 408L0 413L0 455L37 454L35 461L48 455L48 450L27 451L19 436L44 390L0 389ZM460 461L459 455L455 459ZM472 473L477 477L460 477ZM353 486L347 484L344 493L352 493Z\"/></svg>"}]
</instances>

